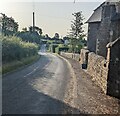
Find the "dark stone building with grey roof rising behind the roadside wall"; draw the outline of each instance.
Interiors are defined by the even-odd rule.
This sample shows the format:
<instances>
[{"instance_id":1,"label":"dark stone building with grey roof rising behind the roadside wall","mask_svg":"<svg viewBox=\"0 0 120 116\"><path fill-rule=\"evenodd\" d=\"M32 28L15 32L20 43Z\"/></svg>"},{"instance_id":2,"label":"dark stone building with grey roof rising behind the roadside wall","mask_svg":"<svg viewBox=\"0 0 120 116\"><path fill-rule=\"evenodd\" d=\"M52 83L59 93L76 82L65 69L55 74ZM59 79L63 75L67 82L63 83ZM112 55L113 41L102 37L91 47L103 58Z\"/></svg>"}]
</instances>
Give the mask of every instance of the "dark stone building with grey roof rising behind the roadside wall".
<instances>
[{"instance_id":1,"label":"dark stone building with grey roof rising behind the roadside wall","mask_svg":"<svg viewBox=\"0 0 120 116\"><path fill-rule=\"evenodd\" d=\"M105 58L106 45L120 36L120 2L109 1L97 7L87 21L88 50Z\"/></svg>"}]
</instances>

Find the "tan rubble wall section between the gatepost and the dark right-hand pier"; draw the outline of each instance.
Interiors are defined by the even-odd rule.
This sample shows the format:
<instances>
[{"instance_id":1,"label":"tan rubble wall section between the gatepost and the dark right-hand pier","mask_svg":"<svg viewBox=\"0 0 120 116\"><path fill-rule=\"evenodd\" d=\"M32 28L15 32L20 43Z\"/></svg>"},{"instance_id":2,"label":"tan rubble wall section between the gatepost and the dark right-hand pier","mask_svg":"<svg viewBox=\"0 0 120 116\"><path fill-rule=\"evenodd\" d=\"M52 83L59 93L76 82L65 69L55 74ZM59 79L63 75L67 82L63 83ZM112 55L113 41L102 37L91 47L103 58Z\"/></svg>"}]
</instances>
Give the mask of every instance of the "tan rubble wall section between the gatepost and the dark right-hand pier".
<instances>
[{"instance_id":1,"label":"tan rubble wall section between the gatepost and the dark right-hand pier","mask_svg":"<svg viewBox=\"0 0 120 116\"><path fill-rule=\"evenodd\" d=\"M105 58L93 52L89 53L87 72L92 76L92 80L106 93L108 66Z\"/></svg>"}]
</instances>

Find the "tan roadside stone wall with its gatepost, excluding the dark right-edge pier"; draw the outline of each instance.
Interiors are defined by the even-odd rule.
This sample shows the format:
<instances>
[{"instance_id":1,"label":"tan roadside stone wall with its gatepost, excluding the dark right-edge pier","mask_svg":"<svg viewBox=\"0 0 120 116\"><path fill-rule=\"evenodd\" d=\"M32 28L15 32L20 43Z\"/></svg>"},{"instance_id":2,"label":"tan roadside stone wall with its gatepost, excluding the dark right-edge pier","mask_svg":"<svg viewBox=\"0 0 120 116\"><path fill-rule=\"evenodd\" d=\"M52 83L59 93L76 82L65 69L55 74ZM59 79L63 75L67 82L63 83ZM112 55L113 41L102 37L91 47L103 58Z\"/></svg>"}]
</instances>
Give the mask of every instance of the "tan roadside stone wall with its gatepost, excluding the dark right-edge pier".
<instances>
[{"instance_id":1,"label":"tan roadside stone wall with its gatepost, excluding the dark right-edge pier","mask_svg":"<svg viewBox=\"0 0 120 116\"><path fill-rule=\"evenodd\" d=\"M102 89L107 92L107 77L108 64L104 57L96 55L93 52L82 49L81 54L61 52L60 55L80 61L80 64L87 64L87 72L92 76L92 80Z\"/></svg>"}]
</instances>

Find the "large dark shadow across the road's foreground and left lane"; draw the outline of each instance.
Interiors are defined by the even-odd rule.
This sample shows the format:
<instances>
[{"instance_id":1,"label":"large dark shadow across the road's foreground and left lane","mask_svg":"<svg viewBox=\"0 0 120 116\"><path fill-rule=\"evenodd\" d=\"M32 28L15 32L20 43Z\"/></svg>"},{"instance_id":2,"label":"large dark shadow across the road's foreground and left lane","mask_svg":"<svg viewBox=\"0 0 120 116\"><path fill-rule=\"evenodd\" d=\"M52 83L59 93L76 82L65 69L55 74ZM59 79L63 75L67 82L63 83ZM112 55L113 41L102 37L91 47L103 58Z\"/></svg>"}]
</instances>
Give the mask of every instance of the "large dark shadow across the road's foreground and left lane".
<instances>
[{"instance_id":1,"label":"large dark shadow across the road's foreground and left lane","mask_svg":"<svg viewBox=\"0 0 120 116\"><path fill-rule=\"evenodd\" d=\"M47 73L47 74L46 74ZM41 77L39 76L41 75ZM46 76L44 76L46 75ZM34 88L31 82L39 78L52 78L54 73L41 70L26 78L18 80L16 85L9 85L10 89L3 89L2 113L3 115L34 115L34 114L87 114L79 109L64 103L61 100L46 95ZM43 77L42 77L43 76ZM3 81L3 86L8 82Z\"/></svg>"}]
</instances>

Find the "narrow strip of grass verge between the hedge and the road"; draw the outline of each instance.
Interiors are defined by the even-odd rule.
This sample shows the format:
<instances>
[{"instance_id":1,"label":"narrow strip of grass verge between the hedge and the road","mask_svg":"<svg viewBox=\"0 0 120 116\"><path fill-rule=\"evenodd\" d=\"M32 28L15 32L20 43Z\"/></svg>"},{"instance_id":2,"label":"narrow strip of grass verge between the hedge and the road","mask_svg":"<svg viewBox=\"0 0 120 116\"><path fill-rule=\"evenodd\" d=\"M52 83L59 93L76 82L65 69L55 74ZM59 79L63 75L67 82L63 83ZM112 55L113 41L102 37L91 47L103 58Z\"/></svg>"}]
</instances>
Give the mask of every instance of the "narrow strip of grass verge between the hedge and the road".
<instances>
[{"instance_id":1,"label":"narrow strip of grass verge between the hedge and the road","mask_svg":"<svg viewBox=\"0 0 120 116\"><path fill-rule=\"evenodd\" d=\"M2 74L7 74L11 71L15 71L19 68L22 68L26 65L32 64L40 58L40 55L35 55L27 58L23 58L22 60L16 60L7 64L2 65Z\"/></svg>"}]
</instances>

